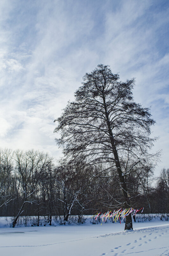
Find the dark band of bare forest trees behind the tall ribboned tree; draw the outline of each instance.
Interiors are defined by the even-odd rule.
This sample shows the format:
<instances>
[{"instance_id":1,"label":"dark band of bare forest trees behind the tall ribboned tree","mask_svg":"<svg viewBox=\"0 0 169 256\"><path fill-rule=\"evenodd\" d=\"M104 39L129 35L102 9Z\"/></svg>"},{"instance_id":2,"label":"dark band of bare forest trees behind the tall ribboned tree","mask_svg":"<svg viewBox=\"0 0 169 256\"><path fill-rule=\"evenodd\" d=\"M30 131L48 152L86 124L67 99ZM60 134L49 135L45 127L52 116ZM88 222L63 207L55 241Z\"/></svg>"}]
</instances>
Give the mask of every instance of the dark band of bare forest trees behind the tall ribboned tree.
<instances>
[{"instance_id":1,"label":"dark band of bare forest trees behind the tall ribboned tree","mask_svg":"<svg viewBox=\"0 0 169 256\"><path fill-rule=\"evenodd\" d=\"M103 166L104 165L104 166ZM107 170L106 172L106 165ZM125 176L133 208L144 207L144 213L168 213L169 169L154 177L153 168L140 167ZM119 177L109 164L86 165L76 159L54 159L39 151L0 150L0 216L13 216L13 227L19 216L53 216L105 212L121 207L123 199Z\"/></svg>"}]
</instances>

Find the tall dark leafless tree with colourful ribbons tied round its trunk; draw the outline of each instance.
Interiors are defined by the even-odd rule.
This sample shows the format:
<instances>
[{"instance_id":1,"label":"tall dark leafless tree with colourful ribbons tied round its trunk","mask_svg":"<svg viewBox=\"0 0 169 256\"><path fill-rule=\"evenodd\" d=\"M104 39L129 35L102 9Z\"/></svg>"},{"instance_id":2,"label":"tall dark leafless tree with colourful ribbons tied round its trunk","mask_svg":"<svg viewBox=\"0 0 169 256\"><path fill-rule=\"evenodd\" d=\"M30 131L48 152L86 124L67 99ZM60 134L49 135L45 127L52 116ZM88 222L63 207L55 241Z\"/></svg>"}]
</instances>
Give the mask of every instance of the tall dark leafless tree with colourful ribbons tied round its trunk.
<instances>
[{"instance_id":1,"label":"tall dark leafless tree with colourful ribbons tied round its trunk","mask_svg":"<svg viewBox=\"0 0 169 256\"><path fill-rule=\"evenodd\" d=\"M134 102L134 79L119 81L109 66L98 65L83 77L82 86L75 92L54 132L60 132L57 144L64 147L67 157L88 160L88 165L108 163L109 171L117 177L125 208L130 207L127 175L152 158L148 150L155 138L150 138L150 109ZM54 122L55 122L54 121ZM132 219L126 216L125 229L132 229Z\"/></svg>"}]
</instances>

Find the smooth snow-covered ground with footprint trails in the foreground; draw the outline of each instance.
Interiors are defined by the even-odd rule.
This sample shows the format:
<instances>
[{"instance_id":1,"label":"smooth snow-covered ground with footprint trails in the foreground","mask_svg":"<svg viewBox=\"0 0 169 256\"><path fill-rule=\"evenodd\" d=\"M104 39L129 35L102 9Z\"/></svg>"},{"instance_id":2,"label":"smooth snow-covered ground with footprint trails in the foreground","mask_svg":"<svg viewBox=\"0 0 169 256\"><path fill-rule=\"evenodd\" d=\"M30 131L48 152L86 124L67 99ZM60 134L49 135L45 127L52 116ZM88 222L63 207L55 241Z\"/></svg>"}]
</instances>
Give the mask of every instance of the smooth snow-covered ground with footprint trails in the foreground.
<instances>
[{"instance_id":1,"label":"smooth snow-covered ground with footprint trails in the foreground","mask_svg":"<svg viewBox=\"0 0 169 256\"><path fill-rule=\"evenodd\" d=\"M0 256L169 255L168 221L0 229Z\"/></svg>"}]
</instances>

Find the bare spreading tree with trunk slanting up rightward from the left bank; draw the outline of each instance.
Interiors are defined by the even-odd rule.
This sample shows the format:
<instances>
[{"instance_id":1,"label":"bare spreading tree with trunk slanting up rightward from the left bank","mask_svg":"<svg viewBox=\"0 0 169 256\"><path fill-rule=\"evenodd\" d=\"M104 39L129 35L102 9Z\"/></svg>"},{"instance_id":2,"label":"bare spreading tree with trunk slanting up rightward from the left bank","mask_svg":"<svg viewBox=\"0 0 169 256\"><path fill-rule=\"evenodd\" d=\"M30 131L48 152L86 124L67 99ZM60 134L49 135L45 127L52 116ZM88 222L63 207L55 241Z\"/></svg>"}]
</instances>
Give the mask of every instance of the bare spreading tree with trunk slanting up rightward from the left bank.
<instances>
[{"instance_id":1,"label":"bare spreading tree with trunk slanting up rightward from the left bank","mask_svg":"<svg viewBox=\"0 0 169 256\"><path fill-rule=\"evenodd\" d=\"M24 212L27 203L36 203L35 195L38 189L38 180L40 175L51 164L52 159L48 154L39 151L20 151L14 152L16 161L16 187L20 195L22 195L22 203L17 216L12 223L13 228L16 226L19 216Z\"/></svg>"}]
</instances>

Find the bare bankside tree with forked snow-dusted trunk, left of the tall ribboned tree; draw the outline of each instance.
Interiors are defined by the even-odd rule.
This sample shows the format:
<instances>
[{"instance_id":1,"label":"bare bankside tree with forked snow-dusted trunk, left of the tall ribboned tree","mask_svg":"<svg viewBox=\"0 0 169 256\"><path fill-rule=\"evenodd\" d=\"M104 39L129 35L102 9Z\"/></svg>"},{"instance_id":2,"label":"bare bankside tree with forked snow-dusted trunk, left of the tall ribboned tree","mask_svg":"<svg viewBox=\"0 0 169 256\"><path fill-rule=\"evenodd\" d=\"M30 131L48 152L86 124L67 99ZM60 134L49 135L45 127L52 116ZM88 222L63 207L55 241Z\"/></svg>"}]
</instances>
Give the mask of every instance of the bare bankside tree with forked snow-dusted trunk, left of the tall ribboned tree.
<instances>
[{"instance_id":1,"label":"bare bankside tree with forked snow-dusted trunk, left of the tall ribboned tree","mask_svg":"<svg viewBox=\"0 0 169 256\"><path fill-rule=\"evenodd\" d=\"M57 182L55 191L64 216L63 224L66 223L73 210L82 215L85 205L88 204L86 191L90 183L89 171L81 162L66 162L65 159L60 161L55 179Z\"/></svg>"}]
</instances>

